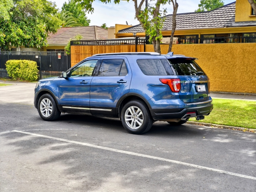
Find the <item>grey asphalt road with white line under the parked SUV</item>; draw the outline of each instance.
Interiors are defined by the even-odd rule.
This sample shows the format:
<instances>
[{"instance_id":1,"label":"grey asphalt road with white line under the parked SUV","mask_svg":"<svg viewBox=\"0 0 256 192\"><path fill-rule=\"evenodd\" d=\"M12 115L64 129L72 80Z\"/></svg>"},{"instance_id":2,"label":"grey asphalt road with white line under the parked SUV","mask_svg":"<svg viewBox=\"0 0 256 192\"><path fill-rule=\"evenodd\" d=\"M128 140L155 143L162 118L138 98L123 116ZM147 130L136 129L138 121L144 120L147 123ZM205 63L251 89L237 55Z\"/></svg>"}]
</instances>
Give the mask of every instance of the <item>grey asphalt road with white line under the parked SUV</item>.
<instances>
[{"instance_id":1,"label":"grey asphalt road with white line under the parked SUV","mask_svg":"<svg viewBox=\"0 0 256 192\"><path fill-rule=\"evenodd\" d=\"M1 192L255 192L255 157L252 132L156 122L132 135L119 119L62 114L46 122L32 105L0 102Z\"/></svg>"}]
</instances>

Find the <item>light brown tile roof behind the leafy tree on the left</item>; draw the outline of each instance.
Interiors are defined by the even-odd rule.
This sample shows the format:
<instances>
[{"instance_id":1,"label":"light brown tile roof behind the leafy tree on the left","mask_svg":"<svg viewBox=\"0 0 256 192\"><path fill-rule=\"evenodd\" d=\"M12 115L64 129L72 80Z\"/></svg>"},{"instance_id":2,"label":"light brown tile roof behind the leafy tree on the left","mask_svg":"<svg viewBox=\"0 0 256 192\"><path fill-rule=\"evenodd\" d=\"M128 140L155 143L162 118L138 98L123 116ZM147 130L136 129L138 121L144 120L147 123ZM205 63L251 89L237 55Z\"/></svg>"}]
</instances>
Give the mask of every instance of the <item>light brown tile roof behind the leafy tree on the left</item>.
<instances>
[{"instance_id":1,"label":"light brown tile roof behind the leafy tree on the left","mask_svg":"<svg viewBox=\"0 0 256 192\"><path fill-rule=\"evenodd\" d=\"M57 33L49 34L47 43L49 45L66 45L69 39L76 35L82 35L82 39L107 39L107 29L99 26L83 26L83 27L62 27Z\"/></svg>"}]
</instances>

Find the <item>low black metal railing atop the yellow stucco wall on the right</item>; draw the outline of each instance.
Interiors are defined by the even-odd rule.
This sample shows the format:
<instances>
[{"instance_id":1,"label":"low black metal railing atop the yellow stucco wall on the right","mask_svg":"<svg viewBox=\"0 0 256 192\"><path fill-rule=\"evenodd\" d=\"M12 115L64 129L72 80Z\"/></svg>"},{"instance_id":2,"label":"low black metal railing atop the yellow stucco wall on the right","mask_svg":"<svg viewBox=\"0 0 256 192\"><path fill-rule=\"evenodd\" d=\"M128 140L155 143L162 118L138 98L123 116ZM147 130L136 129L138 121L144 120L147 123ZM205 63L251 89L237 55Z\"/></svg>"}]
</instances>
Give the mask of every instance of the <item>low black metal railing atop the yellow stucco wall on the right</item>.
<instances>
[{"instance_id":1,"label":"low black metal railing atop the yellow stucco wall on the right","mask_svg":"<svg viewBox=\"0 0 256 192\"><path fill-rule=\"evenodd\" d=\"M196 43L256 43L256 36L251 37L207 37L207 38L178 38L179 44Z\"/></svg>"}]
</instances>

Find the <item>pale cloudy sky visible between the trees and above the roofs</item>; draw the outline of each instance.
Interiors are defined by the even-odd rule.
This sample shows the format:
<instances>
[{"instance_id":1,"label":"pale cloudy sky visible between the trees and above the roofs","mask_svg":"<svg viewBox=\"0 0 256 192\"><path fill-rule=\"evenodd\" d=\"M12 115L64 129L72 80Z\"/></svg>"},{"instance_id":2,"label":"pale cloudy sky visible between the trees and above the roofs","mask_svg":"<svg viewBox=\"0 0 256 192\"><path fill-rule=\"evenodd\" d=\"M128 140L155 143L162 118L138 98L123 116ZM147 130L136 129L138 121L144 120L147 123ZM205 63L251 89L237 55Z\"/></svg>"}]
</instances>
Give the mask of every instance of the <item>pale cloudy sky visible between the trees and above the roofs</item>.
<instances>
[{"instance_id":1,"label":"pale cloudy sky visible between the trees and above the roofs","mask_svg":"<svg viewBox=\"0 0 256 192\"><path fill-rule=\"evenodd\" d=\"M55 1L57 8L61 9L63 3L68 0L51 0ZM139 0L138 0L139 1ZM229 4L235 0L224 0L224 4ZM148 1L149 3L152 3ZM187 13L194 12L198 8L200 0L177 0L179 4L178 13ZM102 3L100 1L93 2L92 6L94 7L94 12L87 13L88 19L91 20L90 25L101 26L103 23L106 23L107 27L115 26L115 24L126 24L126 21L129 25L137 25L139 22L134 19L135 9L134 2L130 0L129 2L124 1L119 4L115 3ZM144 4L145 6L145 4ZM167 8L167 14L172 14L172 5L164 5L160 8Z\"/></svg>"}]
</instances>

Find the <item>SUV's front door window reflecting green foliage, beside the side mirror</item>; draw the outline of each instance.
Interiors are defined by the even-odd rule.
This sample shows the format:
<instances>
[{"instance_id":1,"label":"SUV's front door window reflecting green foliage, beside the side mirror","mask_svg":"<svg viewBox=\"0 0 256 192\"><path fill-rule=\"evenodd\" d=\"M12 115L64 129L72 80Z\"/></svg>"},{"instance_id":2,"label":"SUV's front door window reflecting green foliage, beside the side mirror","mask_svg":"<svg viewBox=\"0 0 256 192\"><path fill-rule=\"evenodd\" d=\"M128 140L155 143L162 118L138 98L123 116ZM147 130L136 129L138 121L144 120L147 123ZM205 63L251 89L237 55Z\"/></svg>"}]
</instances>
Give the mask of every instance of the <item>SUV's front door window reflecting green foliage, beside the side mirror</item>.
<instances>
[{"instance_id":1,"label":"SUV's front door window reflecting green foliage, beside the side mirror","mask_svg":"<svg viewBox=\"0 0 256 192\"><path fill-rule=\"evenodd\" d=\"M80 65L76 66L70 71L69 76L70 77L92 76L92 72L97 61L98 60L88 60L81 63Z\"/></svg>"}]
</instances>

